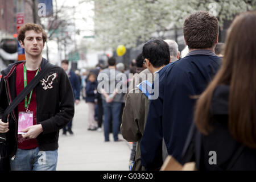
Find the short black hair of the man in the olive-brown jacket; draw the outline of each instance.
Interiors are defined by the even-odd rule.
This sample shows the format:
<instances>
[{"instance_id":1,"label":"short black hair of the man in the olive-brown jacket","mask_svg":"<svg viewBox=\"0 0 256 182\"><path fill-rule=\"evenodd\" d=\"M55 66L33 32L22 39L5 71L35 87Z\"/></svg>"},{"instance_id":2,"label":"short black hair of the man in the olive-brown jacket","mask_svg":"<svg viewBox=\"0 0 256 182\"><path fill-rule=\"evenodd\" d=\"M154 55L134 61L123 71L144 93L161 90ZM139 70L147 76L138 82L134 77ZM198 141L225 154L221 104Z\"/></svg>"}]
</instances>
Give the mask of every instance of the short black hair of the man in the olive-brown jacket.
<instances>
[{"instance_id":1,"label":"short black hair of the man in the olive-brown jacket","mask_svg":"<svg viewBox=\"0 0 256 182\"><path fill-rule=\"evenodd\" d=\"M170 62L169 46L162 39L146 42L142 48L142 54L155 68L162 67Z\"/></svg>"}]
</instances>

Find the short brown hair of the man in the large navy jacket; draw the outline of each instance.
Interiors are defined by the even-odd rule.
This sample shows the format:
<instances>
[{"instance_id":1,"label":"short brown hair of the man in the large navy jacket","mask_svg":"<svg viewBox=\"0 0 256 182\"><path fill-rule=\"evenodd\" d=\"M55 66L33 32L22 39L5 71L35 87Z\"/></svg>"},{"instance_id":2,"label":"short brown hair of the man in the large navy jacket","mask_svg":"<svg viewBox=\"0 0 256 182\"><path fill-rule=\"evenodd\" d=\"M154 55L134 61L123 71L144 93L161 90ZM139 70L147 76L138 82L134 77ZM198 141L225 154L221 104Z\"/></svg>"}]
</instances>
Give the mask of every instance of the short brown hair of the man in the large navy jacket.
<instances>
[{"instance_id":1,"label":"short brown hair of the man in the large navy jacket","mask_svg":"<svg viewBox=\"0 0 256 182\"><path fill-rule=\"evenodd\" d=\"M218 20L206 11L197 11L185 19L183 34L188 48L210 48L218 35Z\"/></svg>"}]
</instances>

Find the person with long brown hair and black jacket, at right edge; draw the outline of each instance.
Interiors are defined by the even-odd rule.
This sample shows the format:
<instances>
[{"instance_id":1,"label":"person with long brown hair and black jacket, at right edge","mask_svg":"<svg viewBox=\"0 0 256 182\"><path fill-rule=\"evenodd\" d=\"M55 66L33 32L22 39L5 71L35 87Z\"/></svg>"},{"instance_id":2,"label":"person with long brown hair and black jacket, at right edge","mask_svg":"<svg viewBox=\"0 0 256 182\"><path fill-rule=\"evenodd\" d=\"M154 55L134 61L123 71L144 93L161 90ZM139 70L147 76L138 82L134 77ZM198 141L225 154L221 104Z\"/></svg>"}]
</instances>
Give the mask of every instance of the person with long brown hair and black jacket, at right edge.
<instances>
[{"instance_id":1,"label":"person with long brown hair and black jacket, at right edge","mask_svg":"<svg viewBox=\"0 0 256 182\"><path fill-rule=\"evenodd\" d=\"M200 170L256 169L255 27L256 11L234 19L221 68L197 100Z\"/></svg>"}]
</instances>

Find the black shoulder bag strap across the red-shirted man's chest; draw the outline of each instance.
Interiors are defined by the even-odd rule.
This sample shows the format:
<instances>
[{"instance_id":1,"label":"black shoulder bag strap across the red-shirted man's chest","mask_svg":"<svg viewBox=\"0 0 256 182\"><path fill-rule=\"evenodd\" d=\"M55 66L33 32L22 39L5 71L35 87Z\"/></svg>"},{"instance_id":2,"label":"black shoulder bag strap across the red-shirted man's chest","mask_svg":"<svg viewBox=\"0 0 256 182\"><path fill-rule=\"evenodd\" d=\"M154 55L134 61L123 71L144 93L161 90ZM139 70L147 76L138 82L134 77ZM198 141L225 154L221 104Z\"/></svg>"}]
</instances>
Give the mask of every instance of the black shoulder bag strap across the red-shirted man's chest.
<instances>
[{"instance_id":1,"label":"black shoulder bag strap across the red-shirted man's chest","mask_svg":"<svg viewBox=\"0 0 256 182\"><path fill-rule=\"evenodd\" d=\"M36 75L30 83L14 98L13 102L6 108L2 116L2 122L7 122L8 114L15 109L16 106L27 96L28 93L38 84L40 80L51 70L52 65L47 63L46 67ZM0 142L6 140L6 133L0 133Z\"/></svg>"}]
</instances>

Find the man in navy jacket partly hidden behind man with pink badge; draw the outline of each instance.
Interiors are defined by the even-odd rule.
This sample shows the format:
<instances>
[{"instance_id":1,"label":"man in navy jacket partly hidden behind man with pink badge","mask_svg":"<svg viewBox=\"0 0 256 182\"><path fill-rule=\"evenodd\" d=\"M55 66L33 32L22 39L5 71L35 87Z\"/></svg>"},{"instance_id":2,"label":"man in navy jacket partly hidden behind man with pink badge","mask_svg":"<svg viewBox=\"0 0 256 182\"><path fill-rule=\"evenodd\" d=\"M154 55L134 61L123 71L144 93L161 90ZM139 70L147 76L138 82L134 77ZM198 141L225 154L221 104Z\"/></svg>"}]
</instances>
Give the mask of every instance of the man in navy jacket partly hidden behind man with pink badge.
<instances>
[{"instance_id":1,"label":"man in navy jacket partly hidden behind man with pink badge","mask_svg":"<svg viewBox=\"0 0 256 182\"><path fill-rule=\"evenodd\" d=\"M80 82L79 82L79 78L76 76L76 74L73 71L68 69L68 60L62 60L61 61L61 68L63 68L64 71L68 75L69 81L70 81L72 89L73 89L75 103L77 105L77 104L79 104L79 101L80 101ZM69 134L71 134L71 135L73 134L73 131L71 130L72 121L73 121L73 119L71 119L71 121L68 123L67 126L63 127L63 135L66 135L67 131L69 132Z\"/></svg>"}]
</instances>

